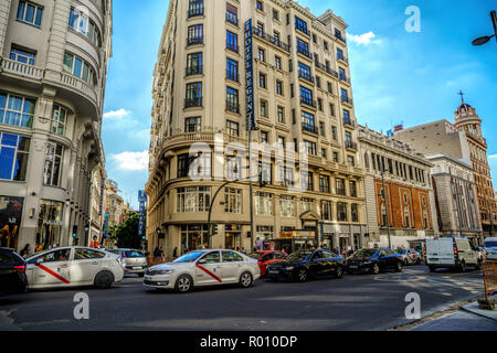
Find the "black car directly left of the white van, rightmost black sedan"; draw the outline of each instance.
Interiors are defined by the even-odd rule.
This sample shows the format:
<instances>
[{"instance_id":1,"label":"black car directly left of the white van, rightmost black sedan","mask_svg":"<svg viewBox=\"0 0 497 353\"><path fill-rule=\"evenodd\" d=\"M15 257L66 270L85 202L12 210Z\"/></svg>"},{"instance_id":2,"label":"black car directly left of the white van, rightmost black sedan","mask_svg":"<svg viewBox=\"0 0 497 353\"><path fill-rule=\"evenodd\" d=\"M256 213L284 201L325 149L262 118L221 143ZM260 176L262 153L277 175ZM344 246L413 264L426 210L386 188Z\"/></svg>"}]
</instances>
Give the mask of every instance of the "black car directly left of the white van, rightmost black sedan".
<instances>
[{"instance_id":1,"label":"black car directly left of the white van, rightmost black sedan","mask_svg":"<svg viewBox=\"0 0 497 353\"><path fill-rule=\"evenodd\" d=\"M369 272L378 275L380 271L393 269L402 271L402 256L389 248L361 249L347 259L347 272Z\"/></svg>"}]
</instances>

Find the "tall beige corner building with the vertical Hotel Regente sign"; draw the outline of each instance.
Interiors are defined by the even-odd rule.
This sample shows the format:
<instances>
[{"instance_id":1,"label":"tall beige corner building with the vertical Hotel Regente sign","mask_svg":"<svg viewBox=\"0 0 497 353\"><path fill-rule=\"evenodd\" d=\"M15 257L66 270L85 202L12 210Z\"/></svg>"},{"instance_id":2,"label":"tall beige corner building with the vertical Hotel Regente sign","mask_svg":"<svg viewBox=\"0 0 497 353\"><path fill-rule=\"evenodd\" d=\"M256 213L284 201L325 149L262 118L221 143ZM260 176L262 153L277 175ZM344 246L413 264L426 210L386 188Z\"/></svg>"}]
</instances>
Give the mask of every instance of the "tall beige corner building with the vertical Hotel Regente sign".
<instances>
[{"instance_id":1,"label":"tall beige corner building with the vertical Hotel Regente sign","mask_svg":"<svg viewBox=\"0 0 497 353\"><path fill-rule=\"evenodd\" d=\"M252 30L245 33L248 19ZM175 248L181 254L200 245L251 247L248 183L228 185L211 204L226 180L214 178L216 163L225 170L246 160L226 146L247 149L247 99L254 103L258 128L251 143L271 147L261 152L267 160L253 169L267 184L254 185L252 242L272 243L282 232L302 231L292 234L316 235L334 247L363 245L364 173L358 165L346 28L331 11L315 17L289 0L170 2L154 72L146 185L151 249L160 246L171 256ZM253 43L248 63L245 38ZM252 92L246 94L251 67L253 99ZM207 151L190 156L195 142ZM214 147L222 156L213 154ZM281 151L297 163L281 162ZM308 152L307 167L298 162L303 151ZM193 163L205 176L201 182L189 178ZM235 179L243 170L236 168L231 168ZM289 192L297 183L305 190ZM211 207L218 224L212 238Z\"/></svg>"}]
</instances>

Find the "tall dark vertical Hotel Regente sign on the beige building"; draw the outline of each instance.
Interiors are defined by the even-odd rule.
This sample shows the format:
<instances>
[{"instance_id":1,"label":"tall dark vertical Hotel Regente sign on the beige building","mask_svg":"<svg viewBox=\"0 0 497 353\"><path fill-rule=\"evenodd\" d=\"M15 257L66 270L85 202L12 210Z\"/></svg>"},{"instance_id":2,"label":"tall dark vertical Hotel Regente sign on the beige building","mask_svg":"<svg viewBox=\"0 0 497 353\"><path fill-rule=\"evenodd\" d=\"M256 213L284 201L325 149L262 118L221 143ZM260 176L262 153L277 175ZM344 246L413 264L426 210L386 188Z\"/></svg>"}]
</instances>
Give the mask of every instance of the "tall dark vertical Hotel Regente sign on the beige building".
<instances>
[{"instance_id":1,"label":"tall dark vertical Hotel Regente sign on the beige building","mask_svg":"<svg viewBox=\"0 0 497 353\"><path fill-rule=\"evenodd\" d=\"M246 128L254 130L254 52L252 49L252 19L245 22L245 87Z\"/></svg>"}]
</instances>

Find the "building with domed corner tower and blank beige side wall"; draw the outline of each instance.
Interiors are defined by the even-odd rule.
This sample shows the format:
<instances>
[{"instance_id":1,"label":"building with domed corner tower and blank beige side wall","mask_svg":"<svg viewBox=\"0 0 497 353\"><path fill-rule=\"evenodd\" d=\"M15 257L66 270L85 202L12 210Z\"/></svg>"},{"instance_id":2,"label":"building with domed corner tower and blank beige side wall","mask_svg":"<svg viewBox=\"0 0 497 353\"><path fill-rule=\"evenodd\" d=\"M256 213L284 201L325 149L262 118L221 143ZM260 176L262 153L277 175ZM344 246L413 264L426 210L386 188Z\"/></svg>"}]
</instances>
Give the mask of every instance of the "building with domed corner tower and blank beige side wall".
<instances>
[{"instance_id":1,"label":"building with domed corner tower and blank beige side wall","mask_svg":"<svg viewBox=\"0 0 497 353\"><path fill-rule=\"evenodd\" d=\"M472 165L482 229L484 236L489 236L497 231L497 203L488 165L487 143L482 133L482 119L475 108L464 100L454 116L454 124L438 120L400 129L394 135L425 156L443 153Z\"/></svg>"}]
</instances>

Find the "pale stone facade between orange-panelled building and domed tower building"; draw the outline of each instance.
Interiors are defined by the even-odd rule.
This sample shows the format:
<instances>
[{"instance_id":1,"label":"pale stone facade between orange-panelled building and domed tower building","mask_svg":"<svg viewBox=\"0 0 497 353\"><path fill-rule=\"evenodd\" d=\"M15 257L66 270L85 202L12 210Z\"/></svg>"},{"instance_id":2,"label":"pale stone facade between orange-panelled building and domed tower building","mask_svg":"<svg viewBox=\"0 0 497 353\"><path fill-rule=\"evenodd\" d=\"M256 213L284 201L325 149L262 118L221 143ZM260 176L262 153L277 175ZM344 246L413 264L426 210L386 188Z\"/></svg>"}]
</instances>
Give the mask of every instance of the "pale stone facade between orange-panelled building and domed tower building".
<instances>
[{"instance_id":1,"label":"pale stone facade between orange-panelled building and domed tower building","mask_svg":"<svg viewBox=\"0 0 497 353\"><path fill-rule=\"evenodd\" d=\"M476 185L470 164L445 154L427 156L442 236L467 236L482 244Z\"/></svg>"}]
</instances>

